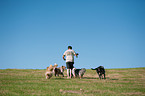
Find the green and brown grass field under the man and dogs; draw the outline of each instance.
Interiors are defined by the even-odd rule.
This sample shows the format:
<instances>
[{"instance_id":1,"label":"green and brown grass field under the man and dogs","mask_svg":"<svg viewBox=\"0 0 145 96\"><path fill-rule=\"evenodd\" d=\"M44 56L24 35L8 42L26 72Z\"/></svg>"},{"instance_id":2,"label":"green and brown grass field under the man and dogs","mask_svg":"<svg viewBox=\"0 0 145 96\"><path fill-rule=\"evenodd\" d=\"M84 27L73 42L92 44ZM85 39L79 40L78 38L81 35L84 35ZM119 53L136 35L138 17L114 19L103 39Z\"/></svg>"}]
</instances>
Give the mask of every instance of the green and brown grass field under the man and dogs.
<instances>
[{"instance_id":1,"label":"green and brown grass field under the man and dogs","mask_svg":"<svg viewBox=\"0 0 145 96\"><path fill-rule=\"evenodd\" d=\"M84 78L45 79L45 70L0 70L0 96L145 96L145 68L106 69L99 80L95 70Z\"/></svg>"}]
</instances>

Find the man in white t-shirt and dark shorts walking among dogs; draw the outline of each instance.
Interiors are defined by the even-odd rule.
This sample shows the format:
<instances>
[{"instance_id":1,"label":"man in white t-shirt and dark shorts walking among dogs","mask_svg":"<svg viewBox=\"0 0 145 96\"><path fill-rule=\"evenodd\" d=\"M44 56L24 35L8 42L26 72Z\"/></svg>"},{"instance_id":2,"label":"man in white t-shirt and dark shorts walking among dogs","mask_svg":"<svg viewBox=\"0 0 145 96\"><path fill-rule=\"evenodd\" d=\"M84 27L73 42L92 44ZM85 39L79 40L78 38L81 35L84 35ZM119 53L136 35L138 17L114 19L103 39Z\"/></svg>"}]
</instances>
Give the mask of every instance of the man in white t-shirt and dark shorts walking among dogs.
<instances>
[{"instance_id":1,"label":"man in white t-shirt and dark shorts walking among dogs","mask_svg":"<svg viewBox=\"0 0 145 96\"><path fill-rule=\"evenodd\" d=\"M66 66L67 66L67 78L71 78L73 64L74 64L74 56L78 56L78 53L75 53L74 50L72 50L71 46L68 46L68 50L66 50L63 54L63 60L66 60ZM66 57L66 59L65 59Z\"/></svg>"}]
</instances>

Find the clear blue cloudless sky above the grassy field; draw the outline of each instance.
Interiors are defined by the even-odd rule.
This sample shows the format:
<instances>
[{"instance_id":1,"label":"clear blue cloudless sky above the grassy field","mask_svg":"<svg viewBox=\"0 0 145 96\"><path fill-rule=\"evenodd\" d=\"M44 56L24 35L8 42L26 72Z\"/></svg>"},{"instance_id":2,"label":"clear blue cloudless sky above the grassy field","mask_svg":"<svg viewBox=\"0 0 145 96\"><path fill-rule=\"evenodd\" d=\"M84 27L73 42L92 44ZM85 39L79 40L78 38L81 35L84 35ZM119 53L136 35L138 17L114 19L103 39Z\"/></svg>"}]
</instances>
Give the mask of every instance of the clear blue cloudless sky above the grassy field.
<instances>
[{"instance_id":1,"label":"clear blue cloudless sky above the grassy field","mask_svg":"<svg viewBox=\"0 0 145 96\"><path fill-rule=\"evenodd\" d=\"M145 67L144 0L0 0L0 69Z\"/></svg>"}]
</instances>

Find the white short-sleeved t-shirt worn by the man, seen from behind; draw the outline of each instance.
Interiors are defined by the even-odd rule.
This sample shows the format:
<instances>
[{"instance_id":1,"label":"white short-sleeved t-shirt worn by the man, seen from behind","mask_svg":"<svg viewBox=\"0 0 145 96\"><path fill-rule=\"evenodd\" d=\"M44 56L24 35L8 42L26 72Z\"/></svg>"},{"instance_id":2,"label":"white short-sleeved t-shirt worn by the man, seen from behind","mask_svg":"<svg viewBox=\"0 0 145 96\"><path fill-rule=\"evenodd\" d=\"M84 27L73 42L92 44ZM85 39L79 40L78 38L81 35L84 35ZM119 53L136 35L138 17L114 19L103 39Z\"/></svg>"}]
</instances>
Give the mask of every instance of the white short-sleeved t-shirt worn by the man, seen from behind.
<instances>
[{"instance_id":1,"label":"white short-sleeved t-shirt worn by the man, seen from behind","mask_svg":"<svg viewBox=\"0 0 145 96\"><path fill-rule=\"evenodd\" d=\"M63 55L66 56L66 62L74 62L74 55L75 55L75 51L72 49L68 49L64 52Z\"/></svg>"}]
</instances>

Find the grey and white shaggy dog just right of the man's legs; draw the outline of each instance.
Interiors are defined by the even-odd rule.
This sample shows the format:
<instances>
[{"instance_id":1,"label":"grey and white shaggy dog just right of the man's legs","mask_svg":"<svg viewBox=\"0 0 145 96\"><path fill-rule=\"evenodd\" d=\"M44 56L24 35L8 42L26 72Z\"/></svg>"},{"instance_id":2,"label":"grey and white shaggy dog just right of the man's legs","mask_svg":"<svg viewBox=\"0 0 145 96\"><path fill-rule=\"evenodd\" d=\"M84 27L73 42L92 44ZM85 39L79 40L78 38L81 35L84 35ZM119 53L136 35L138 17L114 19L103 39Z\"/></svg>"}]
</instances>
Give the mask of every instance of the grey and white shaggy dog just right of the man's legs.
<instances>
[{"instance_id":1,"label":"grey and white shaggy dog just right of the man's legs","mask_svg":"<svg viewBox=\"0 0 145 96\"><path fill-rule=\"evenodd\" d=\"M83 75L85 74L85 72L86 72L85 68L82 68L82 69L73 68L72 69L72 74L73 74L74 78L79 77L81 79L83 77Z\"/></svg>"}]
</instances>

